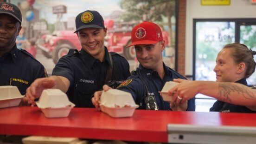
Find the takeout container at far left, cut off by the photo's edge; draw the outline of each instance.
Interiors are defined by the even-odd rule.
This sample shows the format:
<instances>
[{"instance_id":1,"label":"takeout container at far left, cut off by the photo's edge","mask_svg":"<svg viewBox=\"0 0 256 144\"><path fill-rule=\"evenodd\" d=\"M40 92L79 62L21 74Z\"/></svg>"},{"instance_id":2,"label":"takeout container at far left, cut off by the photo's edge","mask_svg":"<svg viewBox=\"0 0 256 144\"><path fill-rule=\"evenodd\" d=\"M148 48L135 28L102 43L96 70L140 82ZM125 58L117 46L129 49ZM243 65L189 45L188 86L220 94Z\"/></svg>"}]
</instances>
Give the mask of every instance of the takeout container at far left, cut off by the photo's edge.
<instances>
[{"instance_id":1,"label":"takeout container at far left, cut off by the photo's edge","mask_svg":"<svg viewBox=\"0 0 256 144\"><path fill-rule=\"evenodd\" d=\"M0 108L18 106L23 96L16 86L0 86Z\"/></svg>"}]
</instances>

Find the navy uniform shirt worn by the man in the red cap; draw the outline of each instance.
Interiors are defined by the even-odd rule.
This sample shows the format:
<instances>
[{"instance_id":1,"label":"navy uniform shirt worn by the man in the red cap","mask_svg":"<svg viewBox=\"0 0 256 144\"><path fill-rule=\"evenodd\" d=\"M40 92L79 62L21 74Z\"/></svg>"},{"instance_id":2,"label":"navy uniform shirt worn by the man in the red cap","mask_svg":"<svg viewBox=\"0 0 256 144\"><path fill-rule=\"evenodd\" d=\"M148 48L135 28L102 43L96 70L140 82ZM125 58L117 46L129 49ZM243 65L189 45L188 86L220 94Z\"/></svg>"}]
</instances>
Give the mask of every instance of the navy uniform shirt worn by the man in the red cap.
<instances>
[{"instance_id":1,"label":"navy uniform shirt worn by the man in the red cap","mask_svg":"<svg viewBox=\"0 0 256 144\"><path fill-rule=\"evenodd\" d=\"M129 77L126 82L121 84L118 89L131 93L135 103L140 106L138 109L146 109L144 98L147 94L147 90L144 83L141 81L141 79L143 79L147 85L149 93L155 97L159 110L171 110L169 102L165 102L163 100L159 91L162 90L166 82L173 81L173 78L186 78L180 75L178 72L175 72L170 67L165 66L164 63L163 66L165 71L163 80L160 78L158 72L153 71L152 69L144 68L140 65L136 72L134 74L132 72L132 76ZM141 78L139 78L138 74ZM188 100L187 111L194 111L195 108L195 98Z\"/></svg>"}]
</instances>

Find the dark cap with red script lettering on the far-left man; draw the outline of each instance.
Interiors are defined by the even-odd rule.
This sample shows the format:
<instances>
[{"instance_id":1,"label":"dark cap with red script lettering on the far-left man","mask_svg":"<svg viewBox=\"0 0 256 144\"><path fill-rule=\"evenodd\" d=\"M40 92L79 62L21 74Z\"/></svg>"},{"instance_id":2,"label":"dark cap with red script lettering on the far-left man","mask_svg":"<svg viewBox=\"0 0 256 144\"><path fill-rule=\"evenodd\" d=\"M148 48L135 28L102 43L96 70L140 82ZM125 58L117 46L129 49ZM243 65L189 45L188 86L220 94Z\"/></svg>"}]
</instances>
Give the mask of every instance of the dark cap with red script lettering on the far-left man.
<instances>
[{"instance_id":1,"label":"dark cap with red script lettering on the far-left man","mask_svg":"<svg viewBox=\"0 0 256 144\"><path fill-rule=\"evenodd\" d=\"M22 16L17 6L7 2L0 2L0 14L1 13L11 15L13 18L17 19L21 24Z\"/></svg>"}]
</instances>

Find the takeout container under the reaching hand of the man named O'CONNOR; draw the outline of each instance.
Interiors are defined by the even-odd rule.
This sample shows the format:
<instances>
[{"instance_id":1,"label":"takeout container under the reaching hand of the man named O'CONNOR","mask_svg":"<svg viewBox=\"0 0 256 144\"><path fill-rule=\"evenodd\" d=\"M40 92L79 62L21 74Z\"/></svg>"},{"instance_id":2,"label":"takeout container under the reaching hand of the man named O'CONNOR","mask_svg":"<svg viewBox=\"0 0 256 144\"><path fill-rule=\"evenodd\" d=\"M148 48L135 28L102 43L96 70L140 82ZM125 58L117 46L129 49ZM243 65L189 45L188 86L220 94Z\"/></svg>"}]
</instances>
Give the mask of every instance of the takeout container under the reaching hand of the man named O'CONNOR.
<instances>
[{"instance_id":1,"label":"takeout container under the reaching hand of the man named O'CONNOR","mask_svg":"<svg viewBox=\"0 0 256 144\"><path fill-rule=\"evenodd\" d=\"M68 96L59 89L43 90L36 104L47 118L67 117L75 106L69 101Z\"/></svg>"}]
</instances>

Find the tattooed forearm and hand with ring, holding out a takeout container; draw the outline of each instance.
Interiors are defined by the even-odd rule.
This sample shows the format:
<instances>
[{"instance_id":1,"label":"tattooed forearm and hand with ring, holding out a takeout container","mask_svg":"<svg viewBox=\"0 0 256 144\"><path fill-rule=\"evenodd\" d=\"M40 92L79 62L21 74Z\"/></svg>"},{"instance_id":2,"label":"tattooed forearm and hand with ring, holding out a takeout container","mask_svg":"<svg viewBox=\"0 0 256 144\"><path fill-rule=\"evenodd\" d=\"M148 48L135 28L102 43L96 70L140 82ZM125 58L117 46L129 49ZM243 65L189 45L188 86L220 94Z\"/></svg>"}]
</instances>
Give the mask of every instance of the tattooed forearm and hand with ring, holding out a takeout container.
<instances>
[{"instance_id":1,"label":"tattooed forearm and hand with ring, holding out a takeout container","mask_svg":"<svg viewBox=\"0 0 256 144\"><path fill-rule=\"evenodd\" d=\"M177 104L180 102L183 103L200 93L214 97L223 102L247 106L252 110L254 106L256 107L256 90L243 84L188 81L183 79L174 79L174 82L180 84L169 90L169 95L173 96L172 104L174 104L174 102Z\"/></svg>"}]
</instances>

